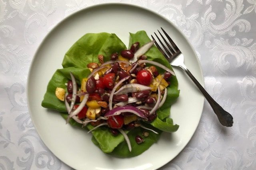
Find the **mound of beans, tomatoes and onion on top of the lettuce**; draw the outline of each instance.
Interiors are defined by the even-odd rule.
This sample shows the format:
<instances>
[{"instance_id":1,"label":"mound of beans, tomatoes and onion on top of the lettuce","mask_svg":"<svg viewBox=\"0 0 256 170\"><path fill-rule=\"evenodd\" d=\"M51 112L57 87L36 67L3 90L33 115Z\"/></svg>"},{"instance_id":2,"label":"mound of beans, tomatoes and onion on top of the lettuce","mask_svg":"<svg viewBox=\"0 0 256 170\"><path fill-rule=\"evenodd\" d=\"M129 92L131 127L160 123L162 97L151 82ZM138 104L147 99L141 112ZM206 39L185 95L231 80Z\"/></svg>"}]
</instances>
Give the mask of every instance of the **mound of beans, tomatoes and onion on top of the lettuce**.
<instances>
[{"instance_id":1,"label":"mound of beans, tomatoes and onion on top of the lettuce","mask_svg":"<svg viewBox=\"0 0 256 170\"><path fill-rule=\"evenodd\" d=\"M151 41L139 48L140 43L136 42L120 54L113 53L111 61L106 62L103 55L98 55L100 64L87 64L91 74L82 79L81 86L76 84L70 72L67 89L56 88L55 93L65 102L69 114L67 122L72 118L82 126L90 123L94 126L90 131L108 126L112 135L124 135L130 151L132 148L125 130L142 127L157 133L143 126L142 122L150 123L156 119L156 110L165 102L166 87L171 83L169 80L174 72L147 60L144 53L153 44ZM134 58L135 62L131 62ZM159 74L156 67L166 72ZM143 133L143 136L147 137L148 133ZM134 140L138 144L144 142L139 134Z\"/></svg>"}]
</instances>

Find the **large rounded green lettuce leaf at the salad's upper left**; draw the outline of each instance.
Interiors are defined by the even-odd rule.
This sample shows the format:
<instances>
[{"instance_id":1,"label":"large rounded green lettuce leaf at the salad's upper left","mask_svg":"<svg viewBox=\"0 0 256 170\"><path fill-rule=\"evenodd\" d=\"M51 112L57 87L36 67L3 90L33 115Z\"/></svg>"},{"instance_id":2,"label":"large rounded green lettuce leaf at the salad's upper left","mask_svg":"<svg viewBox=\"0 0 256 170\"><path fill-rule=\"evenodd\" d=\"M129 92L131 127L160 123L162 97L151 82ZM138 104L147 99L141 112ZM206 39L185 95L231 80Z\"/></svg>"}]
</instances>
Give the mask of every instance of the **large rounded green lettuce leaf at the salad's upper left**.
<instances>
[{"instance_id":1,"label":"large rounded green lettuce leaf at the salad's upper left","mask_svg":"<svg viewBox=\"0 0 256 170\"><path fill-rule=\"evenodd\" d=\"M112 53L120 53L126 49L124 43L110 33L88 33L81 37L65 54L63 68L85 68L89 63L99 63L98 55L104 56L104 61L110 61Z\"/></svg>"}]
</instances>

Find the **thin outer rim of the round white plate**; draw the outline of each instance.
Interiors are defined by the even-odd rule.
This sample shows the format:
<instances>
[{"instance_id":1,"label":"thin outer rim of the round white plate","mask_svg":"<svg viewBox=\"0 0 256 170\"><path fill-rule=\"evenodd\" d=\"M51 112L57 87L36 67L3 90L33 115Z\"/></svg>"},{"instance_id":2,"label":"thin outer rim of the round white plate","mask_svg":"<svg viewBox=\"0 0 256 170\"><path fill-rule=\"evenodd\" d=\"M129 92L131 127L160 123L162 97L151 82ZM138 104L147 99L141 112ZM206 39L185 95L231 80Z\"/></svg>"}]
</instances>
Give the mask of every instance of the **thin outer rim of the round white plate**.
<instances>
[{"instance_id":1,"label":"thin outer rim of the round white plate","mask_svg":"<svg viewBox=\"0 0 256 170\"><path fill-rule=\"evenodd\" d=\"M27 77L27 81L26 81L26 97L27 97L27 106L28 106L28 112L30 114L30 118L31 118L31 121L34 125L34 128L36 130L36 132L38 133L38 136L40 137L40 139L42 140L42 142L44 143L44 145L48 148L48 146L45 144L44 140L42 139L42 135L40 135L40 133L38 132L38 127L37 125L35 124L34 122L34 119L32 119L32 112L31 112L31 106L29 104L29 101L30 101L30 97L29 97L29 84L30 84L30 79L31 79L31 72L32 72L32 66L34 64L34 61L36 59L36 56L38 55L38 52L40 51L40 48L42 47L42 45L44 44L44 42L46 41L46 39L48 39L48 37L50 36L50 34L52 33L52 31L54 31L54 29L56 29L59 25L61 25L64 21L66 20L69 20L72 16L80 13L80 12L83 12L83 11L86 11L86 10L89 10L90 8L99 8L99 7L103 7L103 6L110 6L110 5L115 5L115 6L130 6L130 7L133 7L133 8L138 8L138 9L142 9L142 10L145 10L147 12L150 12L160 18L162 18L163 20L165 20L166 22L170 23L182 36L183 38L186 40L186 42L188 43L188 45L191 47L193 53L194 53L194 56L196 57L196 62L198 63L199 65L199 71L200 71L200 78L202 78L202 82L200 82L200 84L202 85L202 87L205 86L204 84L204 75L203 75L203 71L202 71L202 64L198 58L198 55L196 54L196 51L194 49L194 47L192 46L192 43L188 40L188 38L186 37L186 35L174 24L172 23L172 21L168 20L167 18L165 18L164 16L158 14L157 12L151 10L150 8L145 8L143 6L138 6L136 4L128 4L128 3L123 3L123 2L110 2L110 3L100 3L100 4L94 4L94 5L91 5L91 6L87 6L85 8L82 8L76 12L73 12L72 14L69 14L68 16L62 18L60 21L58 21L58 23L56 23L56 25L54 25L50 31L48 31L48 33L46 33L46 35L44 36L44 38L41 40L40 44L38 45L36 51L34 52L34 55L32 57L32 61L30 63L30 66L29 66L29 71L28 71L28 77ZM202 108L200 110L200 119L202 118L202 112L203 112L203 109L204 109L204 100L202 101ZM192 137L194 136L194 133L196 132L196 129L198 128L198 125L199 125L199 122L200 122L200 119L198 119L198 122L195 122L196 123L196 128L194 129L193 133L192 133L192 136L190 137L190 139L187 141L187 143L184 145L184 147L181 148L181 150L172 158L170 159L168 162L172 161L174 158L176 158L176 156L178 156L178 154L180 154L180 152L182 152L182 150L184 150L184 148L188 145L188 143L190 142L190 140L192 139ZM51 149L49 149L50 152L52 152ZM52 152L52 154L54 154L54 152ZM62 161L64 164L67 164L66 162L64 162L59 156L57 156L56 154L54 154L54 156L56 156L60 161ZM160 168L166 164L168 164L168 162L165 162L164 164L161 164L160 166L157 167ZM72 165L70 164L67 164L68 166L74 168Z\"/></svg>"}]
</instances>

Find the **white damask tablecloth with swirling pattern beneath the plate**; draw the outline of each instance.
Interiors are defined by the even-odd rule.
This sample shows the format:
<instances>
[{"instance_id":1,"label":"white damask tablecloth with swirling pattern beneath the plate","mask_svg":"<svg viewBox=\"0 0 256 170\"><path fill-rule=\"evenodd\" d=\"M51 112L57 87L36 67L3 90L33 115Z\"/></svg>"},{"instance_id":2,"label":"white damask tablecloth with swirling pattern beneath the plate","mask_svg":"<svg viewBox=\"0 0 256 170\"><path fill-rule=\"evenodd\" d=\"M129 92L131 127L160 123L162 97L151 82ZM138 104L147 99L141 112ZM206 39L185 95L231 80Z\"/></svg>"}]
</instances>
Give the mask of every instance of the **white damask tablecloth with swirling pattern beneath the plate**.
<instances>
[{"instance_id":1,"label":"white damask tablecloth with swirling pattern beneath the plate","mask_svg":"<svg viewBox=\"0 0 256 170\"><path fill-rule=\"evenodd\" d=\"M233 127L222 127L205 102L191 141L160 169L256 169L256 0L0 0L0 169L72 169L34 129L28 70L54 25L105 2L143 6L172 21L196 50L206 90L234 117Z\"/></svg>"}]
</instances>

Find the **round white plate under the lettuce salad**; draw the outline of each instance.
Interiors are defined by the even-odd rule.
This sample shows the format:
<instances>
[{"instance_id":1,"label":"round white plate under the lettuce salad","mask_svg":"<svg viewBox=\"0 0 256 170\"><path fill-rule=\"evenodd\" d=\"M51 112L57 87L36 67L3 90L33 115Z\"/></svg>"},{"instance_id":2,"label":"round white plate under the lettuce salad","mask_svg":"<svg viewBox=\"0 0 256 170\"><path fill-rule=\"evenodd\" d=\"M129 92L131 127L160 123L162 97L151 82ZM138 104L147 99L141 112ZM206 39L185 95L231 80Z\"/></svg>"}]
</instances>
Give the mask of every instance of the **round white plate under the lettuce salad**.
<instances>
[{"instance_id":1,"label":"round white plate under the lettuce salad","mask_svg":"<svg viewBox=\"0 0 256 170\"><path fill-rule=\"evenodd\" d=\"M38 48L30 68L28 106L42 141L60 160L75 169L152 170L172 160L186 146L199 123L204 98L180 69L174 69L179 82L180 97L171 109L171 117L180 128L172 134L164 133L150 149L133 158L114 158L104 154L91 142L91 134L66 125L58 113L41 106L53 73L56 69L62 68L64 54L82 35L98 32L116 33L128 45L129 32L145 30L151 35L160 27L163 27L176 42L185 56L187 67L203 84L201 66L184 35L168 20L138 6L92 6L66 18L47 35Z\"/></svg>"}]
</instances>

